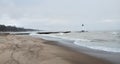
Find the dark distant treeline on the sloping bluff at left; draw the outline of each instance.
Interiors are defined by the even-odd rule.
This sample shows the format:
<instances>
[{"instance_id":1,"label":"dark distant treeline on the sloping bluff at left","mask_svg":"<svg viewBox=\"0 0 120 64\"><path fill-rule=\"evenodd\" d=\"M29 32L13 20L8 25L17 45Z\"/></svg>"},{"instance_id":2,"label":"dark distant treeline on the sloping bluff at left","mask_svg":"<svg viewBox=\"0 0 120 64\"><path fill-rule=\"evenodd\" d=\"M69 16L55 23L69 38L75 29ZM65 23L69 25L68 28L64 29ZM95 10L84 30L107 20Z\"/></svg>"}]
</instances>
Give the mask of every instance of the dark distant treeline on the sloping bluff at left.
<instances>
[{"instance_id":1,"label":"dark distant treeline on the sloping bluff at left","mask_svg":"<svg viewBox=\"0 0 120 64\"><path fill-rule=\"evenodd\" d=\"M0 31L36 31L35 29L25 29L16 26L0 25Z\"/></svg>"}]
</instances>

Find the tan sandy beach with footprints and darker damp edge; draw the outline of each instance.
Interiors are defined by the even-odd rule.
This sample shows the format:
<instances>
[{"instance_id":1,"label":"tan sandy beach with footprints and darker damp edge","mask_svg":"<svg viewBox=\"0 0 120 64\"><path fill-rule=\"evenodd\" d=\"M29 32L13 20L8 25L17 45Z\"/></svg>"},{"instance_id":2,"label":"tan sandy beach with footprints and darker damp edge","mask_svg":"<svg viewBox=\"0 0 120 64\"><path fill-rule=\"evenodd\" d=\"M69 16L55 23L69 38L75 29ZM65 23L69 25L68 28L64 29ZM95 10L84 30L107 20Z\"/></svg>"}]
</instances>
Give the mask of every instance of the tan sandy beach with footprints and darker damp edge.
<instances>
[{"instance_id":1,"label":"tan sandy beach with footprints and darker damp edge","mask_svg":"<svg viewBox=\"0 0 120 64\"><path fill-rule=\"evenodd\" d=\"M0 36L0 64L112 64L30 36Z\"/></svg>"}]
</instances>

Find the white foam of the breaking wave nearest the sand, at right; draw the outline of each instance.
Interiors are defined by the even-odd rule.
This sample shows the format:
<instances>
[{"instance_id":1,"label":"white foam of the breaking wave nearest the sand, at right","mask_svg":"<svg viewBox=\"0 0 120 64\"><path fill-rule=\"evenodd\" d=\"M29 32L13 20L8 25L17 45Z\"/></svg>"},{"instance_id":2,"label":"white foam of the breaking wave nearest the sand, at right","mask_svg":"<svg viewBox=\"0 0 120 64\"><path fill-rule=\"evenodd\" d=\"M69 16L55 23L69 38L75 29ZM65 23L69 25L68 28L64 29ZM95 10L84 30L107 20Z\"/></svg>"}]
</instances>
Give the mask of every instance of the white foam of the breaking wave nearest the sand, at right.
<instances>
[{"instance_id":1,"label":"white foam of the breaking wave nearest the sand, at right","mask_svg":"<svg viewBox=\"0 0 120 64\"><path fill-rule=\"evenodd\" d=\"M75 40L74 44L78 46L91 48L91 49L96 49L96 50L103 50L103 51L108 51L108 52L120 52L120 49L117 47L104 46L104 44L98 45L98 44L95 44L95 42L81 42L79 40Z\"/></svg>"}]
</instances>

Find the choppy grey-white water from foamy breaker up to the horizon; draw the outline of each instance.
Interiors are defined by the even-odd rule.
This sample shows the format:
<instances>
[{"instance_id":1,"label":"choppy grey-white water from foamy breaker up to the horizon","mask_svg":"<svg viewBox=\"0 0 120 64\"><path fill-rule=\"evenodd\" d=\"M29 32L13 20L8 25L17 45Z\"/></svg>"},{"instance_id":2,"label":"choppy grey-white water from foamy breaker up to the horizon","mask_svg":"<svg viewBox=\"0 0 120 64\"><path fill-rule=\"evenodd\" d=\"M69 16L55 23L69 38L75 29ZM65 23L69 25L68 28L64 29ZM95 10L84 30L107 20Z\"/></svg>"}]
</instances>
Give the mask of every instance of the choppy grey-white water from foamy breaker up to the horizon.
<instances>
[{"instance_id":1,"label":"choppy grey-white water from foamy breaker up to the horizon","mask_svg":"<svg viewBox=\"0 0 120 64\"><path fill-rule=\"evenodd\" d=\"M78 46L120 53L120 32L73 32L50 34L48 36L73 40L73 43Z\"/></svg>"}]
</instances>

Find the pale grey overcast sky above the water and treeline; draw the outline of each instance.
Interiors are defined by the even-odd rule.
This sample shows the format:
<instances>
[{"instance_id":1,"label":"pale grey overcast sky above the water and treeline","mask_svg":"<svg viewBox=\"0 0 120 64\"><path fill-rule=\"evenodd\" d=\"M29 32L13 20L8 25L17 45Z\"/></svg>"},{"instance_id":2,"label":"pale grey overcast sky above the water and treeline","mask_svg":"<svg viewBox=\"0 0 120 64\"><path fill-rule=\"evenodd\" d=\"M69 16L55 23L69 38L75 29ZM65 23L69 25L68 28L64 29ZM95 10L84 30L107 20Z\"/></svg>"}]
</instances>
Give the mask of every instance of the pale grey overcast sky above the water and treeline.
<instances>
[{"instance_id":1,"label":"pale grey overcast sky above the water and treeline","mask_svg":"<svg viewBox=\"0 0 120 64\"><path fill-rule=\"evenodd\" d=\"M0 0L0 24L42 30L120 29L120 0Z\"/></svg>"}]
</instances>

